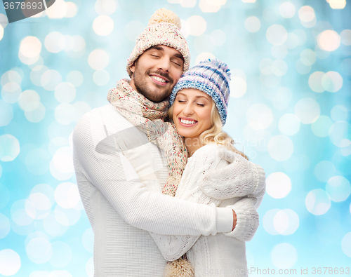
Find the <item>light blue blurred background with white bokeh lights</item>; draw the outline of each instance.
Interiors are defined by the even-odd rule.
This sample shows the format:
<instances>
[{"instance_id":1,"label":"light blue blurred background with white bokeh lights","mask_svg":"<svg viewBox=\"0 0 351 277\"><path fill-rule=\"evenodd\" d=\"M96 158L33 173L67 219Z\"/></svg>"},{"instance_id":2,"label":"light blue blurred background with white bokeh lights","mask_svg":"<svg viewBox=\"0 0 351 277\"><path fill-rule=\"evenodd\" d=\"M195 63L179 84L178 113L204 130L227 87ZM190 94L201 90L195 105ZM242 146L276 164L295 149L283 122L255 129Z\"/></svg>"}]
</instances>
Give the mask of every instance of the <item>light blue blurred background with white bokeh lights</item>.
<instances>
[{"instance_id":1,"label":"light blue blurred background with white bokeh lights","mask_svg":"<svg viewBox=\"0 0 351 277\"><path fill-rule=\"evenodd\" d=\"M162 7L181 18L191 65L230 66L225 130L266 171L251 276L351 275L350 3L56 0L11 24L0 4L0 276L93 276L72 130L107 104Z\"/></svg>"}]
</instances>

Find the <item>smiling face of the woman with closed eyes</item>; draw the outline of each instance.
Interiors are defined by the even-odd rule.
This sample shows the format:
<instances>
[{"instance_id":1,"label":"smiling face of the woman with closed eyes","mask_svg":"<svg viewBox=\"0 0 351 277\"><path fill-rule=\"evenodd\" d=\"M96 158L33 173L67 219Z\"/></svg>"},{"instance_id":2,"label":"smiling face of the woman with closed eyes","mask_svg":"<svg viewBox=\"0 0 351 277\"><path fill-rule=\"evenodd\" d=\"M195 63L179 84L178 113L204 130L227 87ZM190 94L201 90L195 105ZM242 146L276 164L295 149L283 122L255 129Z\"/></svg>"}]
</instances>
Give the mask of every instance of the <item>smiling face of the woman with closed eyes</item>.
<instances>
[{"instance_id":1,"label":"smiling face of the woman with closed eyes","mask_svg":"<svg viewBox=\"0 0 351 277\"><path fill-rule=\"evenodd\" d=\"M212 105L212 98L201 90L180 90L173 104L173 121L178 133L185 138L199 138L212 127Z\"/></svg>"}]
</instances>

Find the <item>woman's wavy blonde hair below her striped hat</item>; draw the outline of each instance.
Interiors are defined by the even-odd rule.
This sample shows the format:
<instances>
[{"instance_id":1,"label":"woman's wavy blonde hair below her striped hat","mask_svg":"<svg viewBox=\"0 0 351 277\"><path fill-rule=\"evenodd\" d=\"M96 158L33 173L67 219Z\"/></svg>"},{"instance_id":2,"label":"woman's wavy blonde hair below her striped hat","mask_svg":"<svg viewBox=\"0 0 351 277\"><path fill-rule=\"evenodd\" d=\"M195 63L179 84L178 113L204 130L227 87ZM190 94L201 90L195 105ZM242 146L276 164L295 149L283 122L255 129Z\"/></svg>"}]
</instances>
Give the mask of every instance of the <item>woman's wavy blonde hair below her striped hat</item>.
<instances>
[{"instance_id":1,"label":"woman's wavy blonde hair below her striped hat","mask_svg":"<svg viewBox=\"0 0 351 277\"><path fill-rule=\"evenodd\" d=\"M173 105L168 109L168 117L173 120ZM241 151L236 149L234 147L234 140L230 135L227 133L223 132L223 124L220 119L220 114L218 112L218 109L216 107L215 102L212 100L212 108L211 108L211 123L212 127L209 128L208 130L204 130L204 132L201 133L199 136L199 140L201 145L206 145L206 144L219 144L223 146L225 149L229 151L233 151L234 153L237 153L246 160L249 160L249 158Z\"/></svg>"}]
</instances>

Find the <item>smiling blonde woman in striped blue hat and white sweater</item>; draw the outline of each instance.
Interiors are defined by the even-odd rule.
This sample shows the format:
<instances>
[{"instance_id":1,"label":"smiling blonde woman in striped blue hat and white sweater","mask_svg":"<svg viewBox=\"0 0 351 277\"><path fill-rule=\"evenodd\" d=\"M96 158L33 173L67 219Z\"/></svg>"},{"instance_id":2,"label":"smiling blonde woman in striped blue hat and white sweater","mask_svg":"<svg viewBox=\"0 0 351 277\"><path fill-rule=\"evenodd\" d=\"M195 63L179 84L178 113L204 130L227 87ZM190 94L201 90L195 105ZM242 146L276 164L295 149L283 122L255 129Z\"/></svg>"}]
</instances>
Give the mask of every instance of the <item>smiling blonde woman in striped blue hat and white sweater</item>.
<instances>
[{"instance_id":1,"label":"smiling blonde woman in striped blue hat and white sweater","mask_svg":"<svg viewBox=\"0 0 351 277\"><path fill-rule=\"evenodd\" d=\"M237 215L234 231L216 236L152 234L167 260L187 252L194 276L246 276L245 241L258 227L256 207L265 193L265 173L235 149L222 131L227 116L230 72L218 60L201 62L178 81L170 97L168 116L184 137L189 154L176 197L228 206ZM166 266L165 276L177 276L183 261ZM180 276L180 275L178 275Z\"/></svg>"}]
</instances>

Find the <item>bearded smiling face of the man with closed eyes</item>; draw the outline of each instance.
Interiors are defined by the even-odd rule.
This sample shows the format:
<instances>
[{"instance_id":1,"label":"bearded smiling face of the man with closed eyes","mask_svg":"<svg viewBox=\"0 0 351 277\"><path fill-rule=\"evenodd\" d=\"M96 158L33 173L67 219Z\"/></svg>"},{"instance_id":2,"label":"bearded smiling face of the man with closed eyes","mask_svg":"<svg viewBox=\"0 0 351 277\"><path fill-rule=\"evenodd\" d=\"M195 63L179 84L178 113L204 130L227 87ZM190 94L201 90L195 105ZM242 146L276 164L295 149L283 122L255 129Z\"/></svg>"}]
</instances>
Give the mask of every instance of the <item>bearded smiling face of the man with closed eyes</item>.
<instances>
[{"instance_id":1,"label":"bearded smiling face of the man with closed eyes","mask_svg":"<svg viewBox=\"0 0 351 277\"><path fill-rule=\"evenodd\" d=\"M168 46L152 46L131 66L131 87L152 102L171 95L183 73L183 56Z\"/></svg>"}]
</instances>

